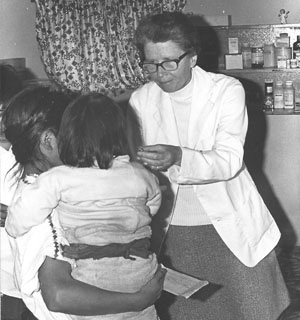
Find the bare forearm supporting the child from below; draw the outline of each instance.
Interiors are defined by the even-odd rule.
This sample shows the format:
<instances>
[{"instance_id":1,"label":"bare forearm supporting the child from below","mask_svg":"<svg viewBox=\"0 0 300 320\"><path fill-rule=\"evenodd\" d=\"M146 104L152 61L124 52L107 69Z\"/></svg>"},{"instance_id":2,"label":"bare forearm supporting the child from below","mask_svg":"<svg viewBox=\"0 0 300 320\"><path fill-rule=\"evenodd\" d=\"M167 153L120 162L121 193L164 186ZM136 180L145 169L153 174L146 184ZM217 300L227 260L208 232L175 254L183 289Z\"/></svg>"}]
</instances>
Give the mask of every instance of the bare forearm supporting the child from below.
<instances>
[{"instance_id":1,"label":"bare forearm supporting the child from below","mask_svg":"<svg viewBox=\"0 0 300 320\"><path fill-rule=\"evenodd\" d=\"M43 299L53 312L93 316L140 311L158 298L147 291L120 293L77 281L69 263L52 258L46 258L40 268L39 280Z\"/></svg>"}]
</instances>

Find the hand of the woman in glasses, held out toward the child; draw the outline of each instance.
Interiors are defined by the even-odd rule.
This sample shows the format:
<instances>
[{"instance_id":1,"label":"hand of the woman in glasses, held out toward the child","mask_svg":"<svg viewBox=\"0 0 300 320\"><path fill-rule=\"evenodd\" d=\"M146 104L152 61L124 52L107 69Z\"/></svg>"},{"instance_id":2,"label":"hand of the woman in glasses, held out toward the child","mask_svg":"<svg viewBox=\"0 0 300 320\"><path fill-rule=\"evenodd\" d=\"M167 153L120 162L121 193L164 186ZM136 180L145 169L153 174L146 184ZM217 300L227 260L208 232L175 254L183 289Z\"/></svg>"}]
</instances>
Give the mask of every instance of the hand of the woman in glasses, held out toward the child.
<instances>
[{"instance_id":1,"label":"hand of the woman in glasses, held out toward the child","mask_svg":"<svg viewBox=\"0 0 300 320\"><path fill-rule=\"evenodd\" d=\"M137 152L137 160L158 171L166 171L174 164L180 166L181 158L181 148L167 144L144 146Z\"/></svg>"}]
</instances>

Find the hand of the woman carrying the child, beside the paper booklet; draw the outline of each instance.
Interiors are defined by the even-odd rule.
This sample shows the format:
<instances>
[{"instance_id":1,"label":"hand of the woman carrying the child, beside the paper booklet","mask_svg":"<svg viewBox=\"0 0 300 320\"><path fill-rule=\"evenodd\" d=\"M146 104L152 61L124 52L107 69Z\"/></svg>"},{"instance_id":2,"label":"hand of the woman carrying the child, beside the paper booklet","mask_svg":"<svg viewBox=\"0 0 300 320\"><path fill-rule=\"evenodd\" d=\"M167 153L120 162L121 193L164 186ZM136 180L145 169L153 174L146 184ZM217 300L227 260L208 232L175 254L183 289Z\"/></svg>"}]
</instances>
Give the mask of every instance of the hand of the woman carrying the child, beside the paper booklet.
<instances>
[{"instance_id":1,"label":"hand of the woman carrying the child, beside the paper booklet","mask_svg":"<svg viewBox=\"0 0 300 320\"><path fill-rule=\"evenodd\" d=\"M167 270L159 265L154 277L137 292L139 300L142 298L145 303L141 310L153 305L160 298L166 273Z\"/></svg>"}]
</instances>

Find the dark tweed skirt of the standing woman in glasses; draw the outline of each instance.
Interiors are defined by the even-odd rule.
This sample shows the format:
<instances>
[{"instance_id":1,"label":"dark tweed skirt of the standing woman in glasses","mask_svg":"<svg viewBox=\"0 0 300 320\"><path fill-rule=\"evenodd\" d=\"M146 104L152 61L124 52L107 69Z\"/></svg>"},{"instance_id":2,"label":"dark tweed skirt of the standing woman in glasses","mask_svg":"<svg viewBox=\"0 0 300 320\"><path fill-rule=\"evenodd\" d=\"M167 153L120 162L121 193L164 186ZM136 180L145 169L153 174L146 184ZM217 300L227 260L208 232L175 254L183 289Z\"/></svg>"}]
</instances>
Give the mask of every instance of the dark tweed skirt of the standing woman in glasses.
<instances>
[{"instance_id":1,"label":"dark tweed skirt of the standing woman in glasses","mask_svg":"<svg viewBox=\"0 0 300 320\"><path fill-rule=\"evenodd\" d=\"M212 225L170 226L160 262L210 282L189 299L163 292L162 320L276 320L289 305L275 252L246 267Z\"/></svg>"}]
</instances>

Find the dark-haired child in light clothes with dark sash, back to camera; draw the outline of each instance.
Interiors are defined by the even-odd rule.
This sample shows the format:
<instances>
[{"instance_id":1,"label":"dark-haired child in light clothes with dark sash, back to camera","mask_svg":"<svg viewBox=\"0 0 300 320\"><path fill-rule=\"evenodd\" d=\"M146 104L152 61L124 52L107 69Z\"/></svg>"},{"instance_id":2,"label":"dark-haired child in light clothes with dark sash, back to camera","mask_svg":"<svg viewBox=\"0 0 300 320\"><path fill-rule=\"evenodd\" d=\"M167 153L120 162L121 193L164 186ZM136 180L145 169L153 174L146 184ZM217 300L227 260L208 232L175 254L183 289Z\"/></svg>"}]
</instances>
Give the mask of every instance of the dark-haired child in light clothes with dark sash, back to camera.
<instances>
[{"instance_id":1,"label":"dark-haired child in light clothes with dark sash, back to camera","mask_svg":"<svg viewBox=\"0 0 300 320\"><path fill-rule=\"evenodd\" d=\"M152 173L130 162L119 106L101 94L77 98L64 112L58 148L64 165L42 173L15 195L8 233L22 236L56 208L67 240L86 253L72 276L104 290L138 291L158 268L150 252L150 222L161 192ZM152 320L157 315L152 305L93 317L98 318Z\"/></svg>"}]
</instances>

